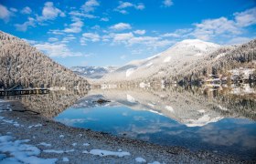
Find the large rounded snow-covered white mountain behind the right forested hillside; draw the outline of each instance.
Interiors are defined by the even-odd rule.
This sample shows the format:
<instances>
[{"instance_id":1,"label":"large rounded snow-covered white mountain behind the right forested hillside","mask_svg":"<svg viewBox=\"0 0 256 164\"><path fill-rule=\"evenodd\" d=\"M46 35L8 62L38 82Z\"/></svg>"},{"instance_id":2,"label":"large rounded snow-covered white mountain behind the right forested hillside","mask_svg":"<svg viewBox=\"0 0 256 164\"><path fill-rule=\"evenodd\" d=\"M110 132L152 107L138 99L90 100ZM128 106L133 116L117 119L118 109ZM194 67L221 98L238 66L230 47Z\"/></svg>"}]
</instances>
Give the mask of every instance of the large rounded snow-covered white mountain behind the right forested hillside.
<instances>
[{"instance_id":1,"label":"large rounded snow-covered white mountain behind the right forested hillside","mask_svg":"<svg viewBox=\"0 0 256 164\"><path fill-rule=\"evenodd\" d=\"M162 53L142 60L135 60L102 77L108 81L122 81L145 77L175 75L188 64L207 56L220 46L198 39L187 39L176 43Z\"/></svg>"}]
</instances>

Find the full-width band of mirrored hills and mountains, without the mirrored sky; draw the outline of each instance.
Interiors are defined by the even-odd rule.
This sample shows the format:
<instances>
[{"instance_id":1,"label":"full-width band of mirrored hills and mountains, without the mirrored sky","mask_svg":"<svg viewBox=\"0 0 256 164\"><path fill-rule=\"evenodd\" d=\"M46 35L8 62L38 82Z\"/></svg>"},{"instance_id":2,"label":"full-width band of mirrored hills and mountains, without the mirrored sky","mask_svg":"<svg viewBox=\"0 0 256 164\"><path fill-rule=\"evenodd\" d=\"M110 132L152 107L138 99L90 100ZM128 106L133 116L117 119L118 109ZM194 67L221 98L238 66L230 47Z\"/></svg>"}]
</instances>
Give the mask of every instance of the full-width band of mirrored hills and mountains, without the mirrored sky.
<instances>
[{"instance_id":1,"label":"full-width band of mirrored hills and mountains, without the mirrored sky","mask_svg":"<svg viewBox=\"0 0 256 164\"><path fill-rule=\"evenodd\" d=\"M251 87L250 87L251 88ZM255 93L255 88L251 88ZM9 97L18 99L26 108L37 111L43 117L56 117L66 108L94 108L100 106L93 101L99 98L112 102L101 106L126 106L134 110L147 110L175 119L187 127L204 126L222 118L251 118L255 120L255 94L232 94L232 88L220 90L208 88L170 87L164 90L91 90L51 92L48 95Z\"/></svg>"}]
</instances>

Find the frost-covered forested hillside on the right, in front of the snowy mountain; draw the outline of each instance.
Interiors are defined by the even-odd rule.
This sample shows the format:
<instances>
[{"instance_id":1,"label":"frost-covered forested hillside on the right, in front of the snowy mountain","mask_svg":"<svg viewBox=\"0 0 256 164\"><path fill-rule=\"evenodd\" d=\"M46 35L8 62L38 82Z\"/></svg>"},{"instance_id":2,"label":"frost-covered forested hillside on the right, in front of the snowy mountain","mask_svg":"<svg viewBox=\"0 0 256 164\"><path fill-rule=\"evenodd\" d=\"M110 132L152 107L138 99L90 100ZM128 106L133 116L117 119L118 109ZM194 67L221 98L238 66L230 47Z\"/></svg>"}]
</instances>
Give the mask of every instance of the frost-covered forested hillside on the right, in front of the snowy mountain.
<instances>
[{"instance_id":1,"label":"frost-covered forested hillside on the right, in front of the snowy mountain","mask_svg":"<svg viewBox=\"0 0 256 164\"><path fill-rule=\"evenodd\" d=\"M241 46L224 46L208 56L191 63L187 69L176 70L172 80L181 82L203 81L214 75L217 77L234 77L243 70L250 80L256 80L256 39ZM254 70L249 74L249 71ZM240 78L242 75L237 75Z\"/></svg>"}]
</instances>

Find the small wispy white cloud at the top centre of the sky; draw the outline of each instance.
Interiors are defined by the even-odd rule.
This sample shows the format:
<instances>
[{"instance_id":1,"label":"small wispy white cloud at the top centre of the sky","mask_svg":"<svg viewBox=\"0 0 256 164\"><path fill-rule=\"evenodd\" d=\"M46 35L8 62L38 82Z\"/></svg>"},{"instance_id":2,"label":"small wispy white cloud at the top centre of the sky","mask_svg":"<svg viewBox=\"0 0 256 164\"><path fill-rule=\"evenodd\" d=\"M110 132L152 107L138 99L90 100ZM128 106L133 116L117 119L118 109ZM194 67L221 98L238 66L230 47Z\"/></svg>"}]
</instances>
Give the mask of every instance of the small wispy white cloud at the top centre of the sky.
<instances>
[{"instance_id":1,"label":"small wispy white cloud at the top centre of the sky","mask_svg":"<svg viewBox=\"0 0 256 164\"><path fill-rule=\"evenodd\" d=\"M119 13L122 13L123 15L128 14L127 12L127 8L131 8L133 7L136 10L144 10L144 4L143 3L139 3L137 5L134 5L130 2L123 2L123 1L119 1L119 5L114 9L114 11L117 11Z\"/></svg>"}]
</instances>

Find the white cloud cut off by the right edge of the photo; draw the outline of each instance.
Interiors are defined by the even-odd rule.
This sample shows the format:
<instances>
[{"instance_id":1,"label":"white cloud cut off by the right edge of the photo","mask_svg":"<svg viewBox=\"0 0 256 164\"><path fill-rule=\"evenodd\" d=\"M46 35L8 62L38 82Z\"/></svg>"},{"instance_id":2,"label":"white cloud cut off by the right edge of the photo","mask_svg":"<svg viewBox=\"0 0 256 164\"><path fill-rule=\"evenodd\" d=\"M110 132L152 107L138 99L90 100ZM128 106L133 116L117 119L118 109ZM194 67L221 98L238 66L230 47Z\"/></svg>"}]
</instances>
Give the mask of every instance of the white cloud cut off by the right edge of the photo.
<instances>
[{"instance_id":1,"label":"white cloud cut off by the right edge of the photo","mask_svg":"<svg viewBox=\"0 0 256 164\"><path fill-rule=\"evenodd\" d=\"M237 26L251 26L256 24L256 7L241 13L235 13Z\"/></svg>"}]
</instances>

